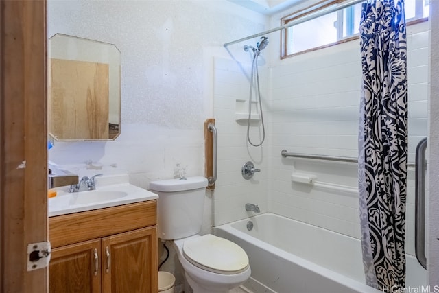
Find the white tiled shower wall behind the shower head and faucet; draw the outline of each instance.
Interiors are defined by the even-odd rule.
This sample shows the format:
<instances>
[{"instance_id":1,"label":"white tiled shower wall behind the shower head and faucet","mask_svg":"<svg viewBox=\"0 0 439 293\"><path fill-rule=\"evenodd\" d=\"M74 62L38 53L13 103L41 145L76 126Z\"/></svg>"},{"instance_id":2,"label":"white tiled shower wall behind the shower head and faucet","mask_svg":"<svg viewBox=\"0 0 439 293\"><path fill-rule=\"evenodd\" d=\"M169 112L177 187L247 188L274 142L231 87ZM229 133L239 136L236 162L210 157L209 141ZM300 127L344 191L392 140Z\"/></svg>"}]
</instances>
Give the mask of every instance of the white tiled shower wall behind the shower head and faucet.
<instances>
[{"instance_id":1,"label":"white tiled shower wall behind the shower head and faucet","mask_svg":"<svg viewBox=\"0 0 439 293\"><path fill-rule=\"evenodd\" d=\"M249 61L251 62L251 60ZM259 69L261 98L267 99L268 71ZM213 192L215 225L239 220L252 215L244 208L245 204L258 204L261 213L267 211L266 184L268 178L268 156L270 144L268 121L265 119L265 141L261 147L248 144L247 116L250 95L251 63L239 63L226 58L215 58L213 76L213 107L218 130L218 179ZM265 82L263 82L265 81ZM254 101L255 96L252 97ZM256 108L256 107L255 107ZM264 105L267 111L267 105ZM256 111L256 110L255 110ZM252 110L252 113L256 113ZM259 113L259 110L257 111ZM263 113L268 116L268 113ZM242 118L245 119L242 119ZM261 141L262 128L259 121L250 124L250 139L253 143ZM261 172L245 180L241 167L252 161Z\"/></svg>"}]
</instances>

